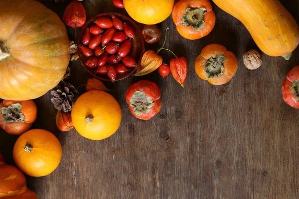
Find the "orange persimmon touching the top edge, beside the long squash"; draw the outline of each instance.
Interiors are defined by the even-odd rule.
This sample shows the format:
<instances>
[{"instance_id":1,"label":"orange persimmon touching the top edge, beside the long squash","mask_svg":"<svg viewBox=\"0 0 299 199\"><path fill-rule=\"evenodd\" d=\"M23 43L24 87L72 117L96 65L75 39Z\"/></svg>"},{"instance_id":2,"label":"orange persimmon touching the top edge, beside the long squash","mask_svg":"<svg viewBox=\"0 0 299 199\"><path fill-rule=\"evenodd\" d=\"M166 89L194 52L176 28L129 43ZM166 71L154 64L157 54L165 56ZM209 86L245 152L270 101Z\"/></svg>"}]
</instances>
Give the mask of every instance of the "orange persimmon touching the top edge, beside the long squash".
<instances>
[{"instance_id":1,"label":"orange persimmon touching the top edge, beside the long squash","mask_svg":"<svg viewBox=\"0 0 299 199\"><path fill-rule=\"evenodd\" d=\"M173 6L172 19L178 33L190 40L208 35L216 22L209 0L179 0Z\"/></svg>"}]
</instances>

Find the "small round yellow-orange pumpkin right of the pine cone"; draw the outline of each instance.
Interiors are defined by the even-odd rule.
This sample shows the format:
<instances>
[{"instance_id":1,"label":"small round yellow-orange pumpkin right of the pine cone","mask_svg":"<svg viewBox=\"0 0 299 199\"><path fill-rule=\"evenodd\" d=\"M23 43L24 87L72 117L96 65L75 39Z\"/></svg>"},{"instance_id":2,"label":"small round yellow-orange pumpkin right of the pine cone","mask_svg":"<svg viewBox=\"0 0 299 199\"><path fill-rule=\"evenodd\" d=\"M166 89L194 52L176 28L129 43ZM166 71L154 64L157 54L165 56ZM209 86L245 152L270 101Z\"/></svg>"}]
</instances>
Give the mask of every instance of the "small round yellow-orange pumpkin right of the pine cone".
<instances>
[{"instance_id":1,"label":"small round yellow-orange pumpkin right of the pine cone","mask_svg":"<svg viewBox=\"0 0 299 199\"><path fill-rule=\"evenodd\" d=\"M119 128L122 120L120 104L104 91L89 91L76 100L72 108L75 129L92 140L105 139Z\"/></svg>"}]
</instances>

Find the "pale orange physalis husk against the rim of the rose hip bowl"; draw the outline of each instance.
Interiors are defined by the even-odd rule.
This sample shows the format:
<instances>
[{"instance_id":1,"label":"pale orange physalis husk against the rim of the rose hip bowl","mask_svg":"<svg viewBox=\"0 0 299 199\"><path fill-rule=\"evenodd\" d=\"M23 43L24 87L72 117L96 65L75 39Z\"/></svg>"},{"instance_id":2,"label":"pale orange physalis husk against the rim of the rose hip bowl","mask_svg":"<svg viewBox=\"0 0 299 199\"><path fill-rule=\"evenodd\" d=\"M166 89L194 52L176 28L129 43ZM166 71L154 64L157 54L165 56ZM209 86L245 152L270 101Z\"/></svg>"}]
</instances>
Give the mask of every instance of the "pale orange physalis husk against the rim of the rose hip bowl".
<instances>
[{"instance_id":1,"label":"pale orange physalis husk against the rim of the rose hip bowl","mask_svg":"<svg viewBox=\"0 0 299 199\"><path fill-rule=\"evenodd\" d=\"M162 64L162 57L157 55L153 50L148 50L142 57L141 64L137 68L137 72L133 76L147 75Z\"/></svg>"}]
</instances>

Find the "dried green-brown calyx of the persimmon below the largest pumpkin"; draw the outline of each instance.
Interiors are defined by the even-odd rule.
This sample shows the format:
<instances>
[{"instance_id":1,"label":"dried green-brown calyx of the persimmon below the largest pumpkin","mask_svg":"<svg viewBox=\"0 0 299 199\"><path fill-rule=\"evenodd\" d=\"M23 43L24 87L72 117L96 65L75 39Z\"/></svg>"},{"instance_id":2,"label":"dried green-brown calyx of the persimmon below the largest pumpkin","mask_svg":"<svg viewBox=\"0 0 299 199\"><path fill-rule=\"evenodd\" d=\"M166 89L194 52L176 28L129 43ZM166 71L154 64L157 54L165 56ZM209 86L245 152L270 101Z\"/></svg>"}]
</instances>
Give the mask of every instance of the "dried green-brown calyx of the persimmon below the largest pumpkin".
<instances>
[{"instance_id":1,"label":"dried green-brown calyx of the persimmon below the largest pumpkin","mask_svg":"<svg viewBox=\"0 0 299 199\"><path fill-rule=\"evenodd\" d=\"M25 116L21 113L22 105L20 103L12 103L8 107L1 108L1 114L3 115L2 121L5 123L22 122L25 121Z\"/></svg>"}]
</instances>

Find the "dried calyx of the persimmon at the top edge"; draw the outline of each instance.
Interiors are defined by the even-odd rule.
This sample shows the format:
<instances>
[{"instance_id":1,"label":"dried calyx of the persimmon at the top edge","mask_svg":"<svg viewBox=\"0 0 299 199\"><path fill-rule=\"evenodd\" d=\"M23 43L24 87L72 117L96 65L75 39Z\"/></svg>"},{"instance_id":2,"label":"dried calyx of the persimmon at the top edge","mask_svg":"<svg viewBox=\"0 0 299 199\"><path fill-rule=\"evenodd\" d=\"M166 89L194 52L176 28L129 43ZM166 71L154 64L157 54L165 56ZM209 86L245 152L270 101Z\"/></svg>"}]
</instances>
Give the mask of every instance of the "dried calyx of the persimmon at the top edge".
<instances>
[{"instance_id":1,"label":"dried calyx of the persimmon at the top edge","mask_svg":"<svg viewBox=\"0 0 299 199\"><path fill-rule=\"evenodd\" d=\"M203 15L207 13L207 10L204 7L200 8L187 8L186 14L182 16L182 24L184 26L191 25L192 28L196 31L203 29L205 22L203 20Z\"/></svg>"}]
</instances>

